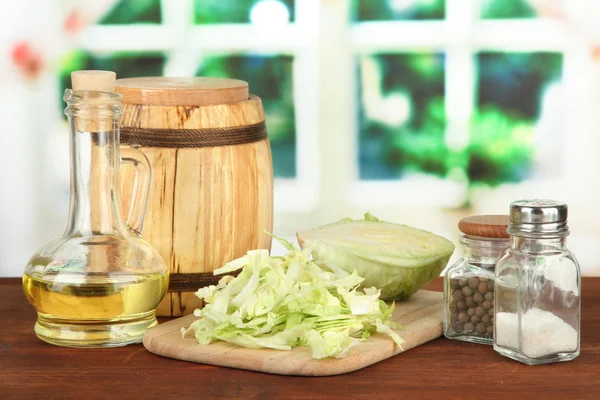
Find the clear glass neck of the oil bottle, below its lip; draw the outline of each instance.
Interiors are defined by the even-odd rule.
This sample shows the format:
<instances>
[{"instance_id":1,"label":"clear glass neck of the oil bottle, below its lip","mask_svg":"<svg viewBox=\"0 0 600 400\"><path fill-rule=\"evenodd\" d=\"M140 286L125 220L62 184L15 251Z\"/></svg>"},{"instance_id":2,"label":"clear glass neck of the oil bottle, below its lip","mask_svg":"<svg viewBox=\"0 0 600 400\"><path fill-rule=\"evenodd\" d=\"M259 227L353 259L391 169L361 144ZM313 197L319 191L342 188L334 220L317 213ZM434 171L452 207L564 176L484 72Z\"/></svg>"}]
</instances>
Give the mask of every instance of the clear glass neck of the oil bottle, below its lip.
<instances>
[{"instance_id":1,"label":"clear glass neck of the oil bottle, below its lip","mask_svg":"<svg viewBox=\"0 0 600 400\"><path fill-rule=\"evenodd\" d=\"M71 190L66 235L126 234L121 218L118 119L81 111L67 115Z\"/></svg>"}]
</instances>

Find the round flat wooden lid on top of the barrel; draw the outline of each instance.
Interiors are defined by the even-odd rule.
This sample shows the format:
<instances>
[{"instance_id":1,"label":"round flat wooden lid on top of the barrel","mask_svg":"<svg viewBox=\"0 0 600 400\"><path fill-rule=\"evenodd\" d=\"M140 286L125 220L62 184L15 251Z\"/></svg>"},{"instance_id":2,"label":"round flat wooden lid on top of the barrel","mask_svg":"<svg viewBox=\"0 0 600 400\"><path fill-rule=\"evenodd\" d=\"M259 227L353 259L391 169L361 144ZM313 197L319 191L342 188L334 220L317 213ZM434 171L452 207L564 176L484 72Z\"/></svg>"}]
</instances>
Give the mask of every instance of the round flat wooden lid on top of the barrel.
<instances>
[{"instance_id":1,"label":"round flat wooden lid on top of the barrel","mask_svg":"<svg viewBox=\"0 0 600 400\"><path fill-rule=\"evenodd\" d=\"M228 78L125 78L117 79L115 90L123 103L156 106L228 104L249 97L247 82Z\"/></svg>"}]
</instances>

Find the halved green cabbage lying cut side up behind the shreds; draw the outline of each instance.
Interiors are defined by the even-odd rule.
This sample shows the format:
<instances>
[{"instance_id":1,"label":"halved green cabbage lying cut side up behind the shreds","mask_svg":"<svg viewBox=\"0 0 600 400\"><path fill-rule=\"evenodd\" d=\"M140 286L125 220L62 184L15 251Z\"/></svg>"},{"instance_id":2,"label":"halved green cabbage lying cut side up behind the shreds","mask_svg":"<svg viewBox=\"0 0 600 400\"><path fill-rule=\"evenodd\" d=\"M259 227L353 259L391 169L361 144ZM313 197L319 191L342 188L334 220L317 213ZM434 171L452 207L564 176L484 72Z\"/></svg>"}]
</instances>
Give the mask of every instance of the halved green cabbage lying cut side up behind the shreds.
<instances>
[{"instance_id":1,"label":"halved green cabbage lying cut side up behind the shreds","mask_svg":"<svg viewBox=\"0 0 600 400\"><path fill-rule=\"evenodd\" d=\"M314 261L328 269L358 272L363 287L381 289L382 299L406 299L439 276L454 244L407 225L363 220L339 222L297 233L300 247L313 247Z\"/></svg>"}]
</instances>

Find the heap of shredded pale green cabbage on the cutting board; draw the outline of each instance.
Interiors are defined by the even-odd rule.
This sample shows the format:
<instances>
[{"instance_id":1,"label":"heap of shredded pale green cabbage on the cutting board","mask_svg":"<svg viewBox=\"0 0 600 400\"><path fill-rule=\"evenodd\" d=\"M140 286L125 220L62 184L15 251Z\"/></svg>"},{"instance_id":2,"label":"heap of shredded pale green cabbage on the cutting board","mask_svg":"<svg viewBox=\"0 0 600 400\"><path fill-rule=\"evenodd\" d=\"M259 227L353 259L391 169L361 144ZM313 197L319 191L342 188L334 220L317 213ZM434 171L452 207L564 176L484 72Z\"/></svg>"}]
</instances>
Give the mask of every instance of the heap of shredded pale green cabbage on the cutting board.
<instances>
[{"instance_id":1,"label":"heap of shredded pale green cabbage on the cutting board","mask_svg":"<svg viewBox=\"0 0 600 400\"><path fill-rule=\"evenodd\" d=\"M248 348L290 350L309 347L312 357L344 357L372 333L388 335L398 346L404 341L394 329L394 304L379 299L375 288L358 290L363 278L356 271L329 269L311 261L314 246L303 250L274 236L289 250L271 257L252 250L214 271L225 275L215 286L199 289L205 302L194 311L200 317L186 329L200 344L218 340ZM315 244L316 245L316 244Z\"/></svg>"}]
</instances>

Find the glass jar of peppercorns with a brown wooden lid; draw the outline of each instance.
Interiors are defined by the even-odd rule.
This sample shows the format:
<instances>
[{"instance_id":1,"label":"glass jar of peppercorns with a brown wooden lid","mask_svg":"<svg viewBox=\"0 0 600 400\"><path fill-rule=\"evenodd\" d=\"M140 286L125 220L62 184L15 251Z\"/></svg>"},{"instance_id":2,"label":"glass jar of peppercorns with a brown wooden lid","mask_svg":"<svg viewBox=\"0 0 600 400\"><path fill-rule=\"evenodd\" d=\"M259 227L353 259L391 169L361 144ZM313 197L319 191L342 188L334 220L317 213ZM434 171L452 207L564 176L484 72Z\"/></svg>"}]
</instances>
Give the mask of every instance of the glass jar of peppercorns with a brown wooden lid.
<instances>
[{"instance_id":1,"label":"glass jar of peppercorns with a brown wooden lid","mask_svg":"<svg viewBox=\"0 0 600 400\"><path fill-rule=\"evenodd\" d=\"M508 215L477 215L458 223L464 256L444 276L444 336L492 344L496 260L509 244Z\"/></svg>"}]
</instances>

